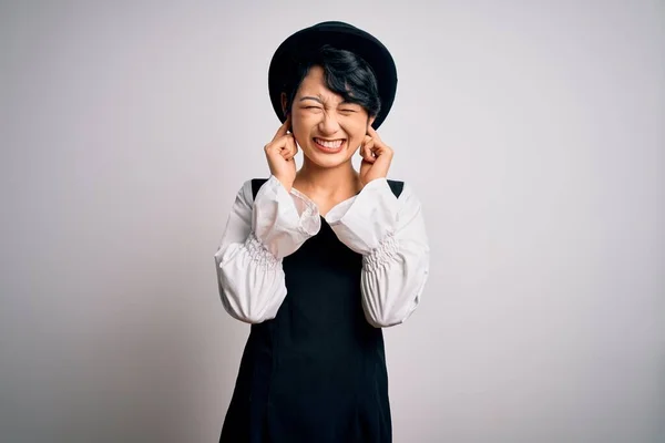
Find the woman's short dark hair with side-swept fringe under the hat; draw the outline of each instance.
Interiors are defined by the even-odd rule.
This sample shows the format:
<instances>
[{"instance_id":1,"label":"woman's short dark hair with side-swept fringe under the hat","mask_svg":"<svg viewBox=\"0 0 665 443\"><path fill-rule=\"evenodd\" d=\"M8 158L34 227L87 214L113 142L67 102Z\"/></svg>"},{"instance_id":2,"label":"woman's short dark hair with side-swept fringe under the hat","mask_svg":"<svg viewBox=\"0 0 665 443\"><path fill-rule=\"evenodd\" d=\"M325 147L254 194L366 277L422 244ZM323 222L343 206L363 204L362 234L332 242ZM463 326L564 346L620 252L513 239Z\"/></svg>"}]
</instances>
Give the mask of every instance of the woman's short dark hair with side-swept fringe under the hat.
<instances>
[{"instance_id":1,"label":"woman's short dark hair with side-swept fringe under the hat","mask_svg":"<svg viewBox=\"0 0 665 443\"><path fill-rule=\"evenodd\" d=\"M381 110L379 86L371 66L351 51L328 44L306 53L299 61L293 82L285 85L286 110L290 111L298 87L313 66L321 66L326 86L346 102L362 106L370 117Z\"/></svg>"}]
</instances>

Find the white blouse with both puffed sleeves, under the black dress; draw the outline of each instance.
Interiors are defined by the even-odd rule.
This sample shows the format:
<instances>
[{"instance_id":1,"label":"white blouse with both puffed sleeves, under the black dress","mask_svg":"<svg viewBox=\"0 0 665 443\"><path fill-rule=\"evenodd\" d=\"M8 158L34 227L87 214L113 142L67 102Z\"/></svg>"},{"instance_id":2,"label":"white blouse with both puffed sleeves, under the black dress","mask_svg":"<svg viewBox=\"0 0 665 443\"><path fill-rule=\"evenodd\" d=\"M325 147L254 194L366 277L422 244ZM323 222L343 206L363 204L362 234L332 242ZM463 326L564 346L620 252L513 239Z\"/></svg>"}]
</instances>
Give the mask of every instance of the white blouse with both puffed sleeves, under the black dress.
<instances>
[{"instance_id":1,"label":"white blouse with both puffed sleeves, under the black dress","mask_svg":"<svg viewBox=\"0 0 665 443\"><path fill-rule=\"evenodd\" d=\"M325 220L347 247L362 255L361 293L367 321L402 323L413 312L429 274L429 244L421 205L408 184L395 197L386 178L328 212ZM275 318L286 297L282 261L321 224L316 204L270 176L252 196L238 192L215 253L219 295L234 318L258 323Z\"/></svg>"}]
</instances>

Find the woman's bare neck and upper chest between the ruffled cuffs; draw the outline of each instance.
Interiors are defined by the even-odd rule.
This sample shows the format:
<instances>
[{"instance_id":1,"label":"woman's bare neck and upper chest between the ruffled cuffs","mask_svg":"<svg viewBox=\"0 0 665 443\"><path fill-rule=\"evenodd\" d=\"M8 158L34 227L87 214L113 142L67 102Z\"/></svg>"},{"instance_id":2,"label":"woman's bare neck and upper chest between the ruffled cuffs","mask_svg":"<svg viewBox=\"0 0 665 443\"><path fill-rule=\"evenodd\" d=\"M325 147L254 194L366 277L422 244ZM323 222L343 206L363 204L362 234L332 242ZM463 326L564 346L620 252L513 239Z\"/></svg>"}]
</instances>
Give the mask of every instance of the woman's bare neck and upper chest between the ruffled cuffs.
<instances>
[{"instance_id":1,"label":"woman's bare neck and upper chest between the ruffled cuffs","mask_svg":"<svg viewBox=\"0 0 665 443\"><path fill-rule=\"evenodd\" d=\"M321 167L305 157L294 187L306 194L348 197L360 190L360 179L350 159L335 167Z\"/></svg>"}]
</instances>

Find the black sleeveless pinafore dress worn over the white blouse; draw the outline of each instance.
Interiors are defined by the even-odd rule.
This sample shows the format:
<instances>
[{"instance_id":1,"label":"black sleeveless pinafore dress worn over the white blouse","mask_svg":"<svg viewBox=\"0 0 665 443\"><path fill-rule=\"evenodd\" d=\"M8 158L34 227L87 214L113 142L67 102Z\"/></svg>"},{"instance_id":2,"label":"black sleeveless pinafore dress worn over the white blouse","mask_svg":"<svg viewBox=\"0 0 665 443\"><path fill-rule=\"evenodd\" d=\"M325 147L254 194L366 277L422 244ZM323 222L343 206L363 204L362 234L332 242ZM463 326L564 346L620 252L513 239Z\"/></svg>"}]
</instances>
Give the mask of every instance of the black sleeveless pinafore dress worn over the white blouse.
<instances>
[{"instance_id":1,"label":"black sleeveless pinafore dress worn over the white blouse","mask_svg":"<svg viewBox=\"0 0 665 443\"><path fill-rule=\"evenodd\" d=\"M253 179L254 196L265 179ZM388 181L399 197L403 183ZM389 443L380 328L361 305L362 256L321 228L283 261L287 296L252 324L221 443Z\"/></svg>"}]
</instances>

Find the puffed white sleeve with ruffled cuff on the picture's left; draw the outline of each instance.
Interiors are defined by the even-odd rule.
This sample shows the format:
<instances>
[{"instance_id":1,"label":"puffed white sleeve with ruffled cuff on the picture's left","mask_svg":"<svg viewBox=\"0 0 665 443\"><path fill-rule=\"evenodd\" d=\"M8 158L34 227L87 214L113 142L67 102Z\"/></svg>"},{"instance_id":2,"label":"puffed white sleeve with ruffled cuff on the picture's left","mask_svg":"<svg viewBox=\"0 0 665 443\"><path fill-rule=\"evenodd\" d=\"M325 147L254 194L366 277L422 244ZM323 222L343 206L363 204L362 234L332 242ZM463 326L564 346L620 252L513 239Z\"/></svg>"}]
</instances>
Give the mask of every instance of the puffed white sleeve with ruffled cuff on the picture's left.
<instances>
[{"instance_id":1,"label":"puffed white sleeve with ruffled cuff on the picture's left","mask_svg":"<svg viewBox=\"0 0 665 443\"><path fill-rule=\"evenodd\" d=\"M256 199L252 182L246 182L236 195L215 253L224 309L248 323L275 318L286 297L282 260L319 228L316 206L289 194L274 176L260 187Z\"/></svg>"}]
</instances>

